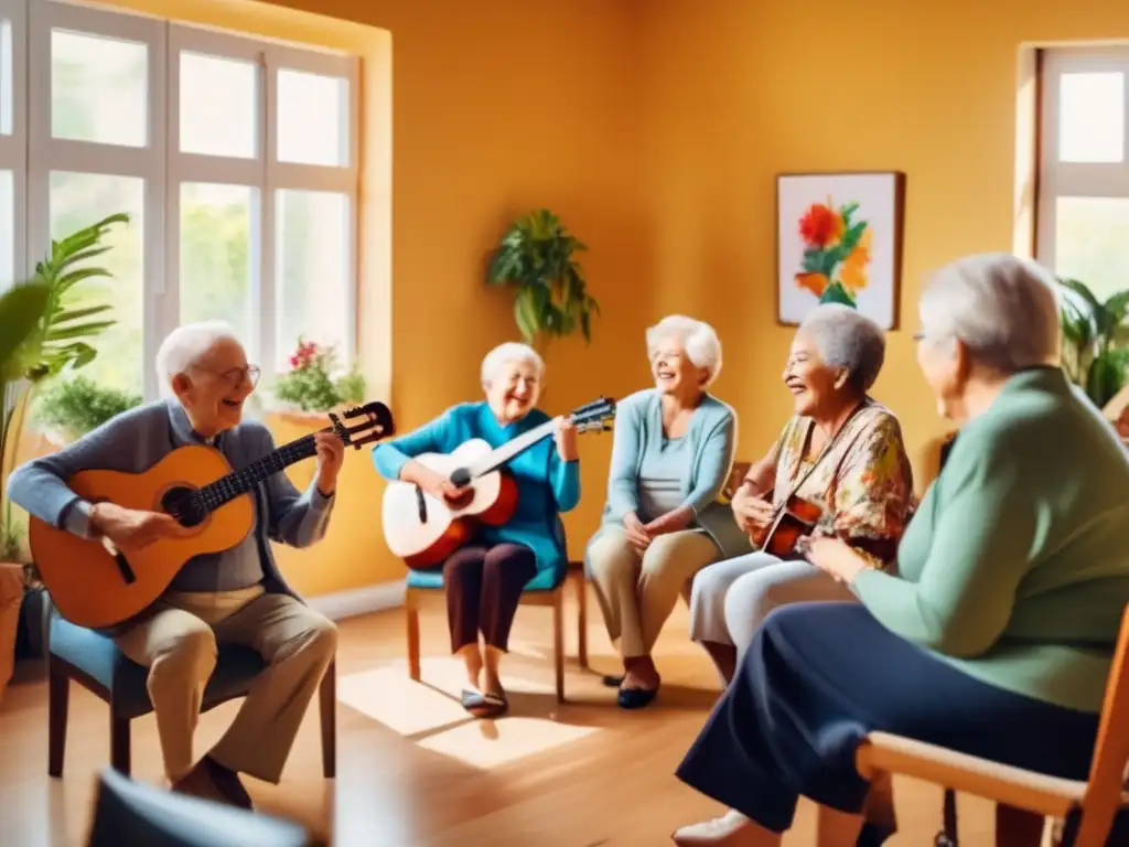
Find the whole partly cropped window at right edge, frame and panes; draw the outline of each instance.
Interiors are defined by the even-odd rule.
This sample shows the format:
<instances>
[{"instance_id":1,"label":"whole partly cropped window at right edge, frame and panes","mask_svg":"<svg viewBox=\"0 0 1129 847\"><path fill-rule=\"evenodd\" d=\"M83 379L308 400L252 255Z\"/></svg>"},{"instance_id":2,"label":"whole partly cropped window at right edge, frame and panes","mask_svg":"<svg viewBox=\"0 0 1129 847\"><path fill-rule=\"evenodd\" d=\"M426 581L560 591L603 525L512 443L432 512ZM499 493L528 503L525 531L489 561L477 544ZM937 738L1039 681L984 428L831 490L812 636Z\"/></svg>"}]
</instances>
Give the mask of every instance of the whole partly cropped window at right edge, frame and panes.
<instances>
[{"instance_id":1,"label":"whole partly cropped window at right edge, frame and panes","mask_svg":"<svg viewBox=\"0 0 1129 847\"><path fill-rule=\"evenodd\" d=\"M1129 49L1045 51L1041 86L1036 256L1104 299L1129 286Z\"/></svg>"}]
</instances>

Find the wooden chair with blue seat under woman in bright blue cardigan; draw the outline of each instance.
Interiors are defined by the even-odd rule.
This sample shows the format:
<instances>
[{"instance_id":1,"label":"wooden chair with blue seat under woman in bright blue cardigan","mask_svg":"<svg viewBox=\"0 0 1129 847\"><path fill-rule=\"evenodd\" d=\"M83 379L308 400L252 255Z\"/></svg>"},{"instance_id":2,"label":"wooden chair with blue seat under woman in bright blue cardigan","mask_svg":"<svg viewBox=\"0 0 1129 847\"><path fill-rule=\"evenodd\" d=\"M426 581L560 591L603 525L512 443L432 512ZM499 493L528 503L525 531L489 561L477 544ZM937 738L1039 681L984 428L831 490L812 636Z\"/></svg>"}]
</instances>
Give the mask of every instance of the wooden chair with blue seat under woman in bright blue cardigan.
<instances>
[{"instance_id":1,"label":"wooden chair with blue seat under woman in bright blue cardigan","mask_svg":"<svg viewBox=\"0 0 1129 847\"><path fill-rule=\"evenodd\" d=\"M551 574L545 574L550 577ZM577 597L577 658L580 667L588 667L588 612L584 562L570 561L555 582L540 585L541 575L522 594L520 605L551 606L553 610L553 664L557 672L557 701L564 702L564 586L572 582ZM408 623L408 673L420 680L420 606L427 597L443 597L440 571L408 571L404 612Z\"/></svg>"}]
</instances>

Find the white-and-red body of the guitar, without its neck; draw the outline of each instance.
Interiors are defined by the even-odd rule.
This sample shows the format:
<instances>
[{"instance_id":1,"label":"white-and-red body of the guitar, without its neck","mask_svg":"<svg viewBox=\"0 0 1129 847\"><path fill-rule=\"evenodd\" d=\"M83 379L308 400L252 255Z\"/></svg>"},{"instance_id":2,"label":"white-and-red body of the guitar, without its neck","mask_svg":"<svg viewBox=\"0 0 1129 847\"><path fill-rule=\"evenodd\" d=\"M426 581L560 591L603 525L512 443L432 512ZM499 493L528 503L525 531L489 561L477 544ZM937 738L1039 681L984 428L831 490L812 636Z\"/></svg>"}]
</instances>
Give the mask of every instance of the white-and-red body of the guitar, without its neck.
<instances>
[{"instance_id":1,"label":"white-and-red body of the guitar, without its neck","mask_svg":"<svg viewBox=\"0 0 1129 847\"><path fill-rule=\"evenodd\" d=\"M414 460L449 479L455 471L481 462L492 449L481 438L471 438L452 453L423 453ZM491 471L472 479L467 488L474 496L453 507L410 482L388 482L382 518L392 553L412 569L434 567L465 544L479 524L501 526L513 516L517 482L509 474Z\"/></svg>"}]
</instances>

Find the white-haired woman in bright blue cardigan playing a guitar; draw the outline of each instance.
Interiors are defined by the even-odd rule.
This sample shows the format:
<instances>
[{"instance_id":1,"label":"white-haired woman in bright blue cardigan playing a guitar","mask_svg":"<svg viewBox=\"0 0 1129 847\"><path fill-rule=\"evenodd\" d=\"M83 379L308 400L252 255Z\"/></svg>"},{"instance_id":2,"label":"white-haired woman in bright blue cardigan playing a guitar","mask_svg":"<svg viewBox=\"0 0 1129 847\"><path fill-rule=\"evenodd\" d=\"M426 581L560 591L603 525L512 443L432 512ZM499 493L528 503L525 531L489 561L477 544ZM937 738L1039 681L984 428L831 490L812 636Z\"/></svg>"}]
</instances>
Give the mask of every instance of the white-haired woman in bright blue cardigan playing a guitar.
<instances>
[{"instance_id":1,"label":"white-haired woman in bright blue cardigan playing a guitar","mask_svg":"<svg viewBox=\"0 0 1129 847\"><path fill-rule=\"evenodd\" d=\"M452 453L471 438L500 447L541 426L549 420L535 408L543 376L544 363L533 348L519 343L495 348L482 360L485 401L452 407L419 429L380 444L373 451L377 472L457 503L464 491L413 456ZM496 717L508 707L498 664L522 592L539 574L559 574L568 567L559 516L580 499L576 429L569 419L560 418L551 442L518 454L507 470L517 481L514 516L502 526L481 526L478 536L443 565L450 647L466 664L463 706L479 717Z\"/></svg>"}]
</instances>

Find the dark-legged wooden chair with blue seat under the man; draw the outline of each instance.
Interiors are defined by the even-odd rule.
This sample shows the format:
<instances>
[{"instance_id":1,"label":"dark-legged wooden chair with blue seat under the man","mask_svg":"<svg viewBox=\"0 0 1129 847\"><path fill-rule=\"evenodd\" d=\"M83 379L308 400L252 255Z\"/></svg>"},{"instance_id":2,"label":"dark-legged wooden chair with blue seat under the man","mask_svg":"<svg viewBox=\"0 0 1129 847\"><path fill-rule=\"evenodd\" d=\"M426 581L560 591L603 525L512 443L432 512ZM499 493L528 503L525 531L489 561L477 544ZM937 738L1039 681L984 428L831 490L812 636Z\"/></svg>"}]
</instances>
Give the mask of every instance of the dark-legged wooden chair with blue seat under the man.
<instances>
[{"instance_id":1,"label":"dark-legged wooden chair with blue seat under the man","mask_svg":"<svg viewBox=\"0 0 1129 847\"><path fill-rule=\"evenodd\" d=\"M47 772L63 774L67 751L67 714L71 680L110 706L110 762L114 770L130 775L130 721L152 711L146 687L148 671L131 662L113 639L78 627L62 618L46 600L44 645L47 664ZM201 711L245 697L252 681L263 670L260 655L247 647L225 646L204 690ZM336 775L336 663L331 663L318 689L322 721L322 772Z\"/></svg>"}]
</instances>

